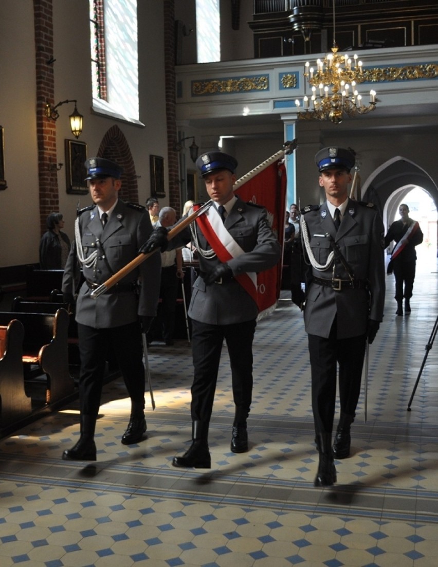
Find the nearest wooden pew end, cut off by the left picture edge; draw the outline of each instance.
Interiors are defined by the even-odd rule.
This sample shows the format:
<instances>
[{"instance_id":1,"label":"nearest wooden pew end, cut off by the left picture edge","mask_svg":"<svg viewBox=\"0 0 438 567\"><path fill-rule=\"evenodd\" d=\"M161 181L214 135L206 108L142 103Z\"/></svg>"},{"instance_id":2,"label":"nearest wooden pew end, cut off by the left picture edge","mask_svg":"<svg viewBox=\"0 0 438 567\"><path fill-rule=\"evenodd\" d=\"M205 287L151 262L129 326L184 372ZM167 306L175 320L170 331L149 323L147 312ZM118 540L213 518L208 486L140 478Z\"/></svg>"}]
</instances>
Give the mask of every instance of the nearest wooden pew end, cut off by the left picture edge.
<instances>
[{"instance_id":1,"label":"nearest wooden pew end, cut off by the left picture edge","mask_svg":"<svg viewBox=\"0 0 438 567\"><path fill-rule=\"evenodd\" d=\"M24 327L12 319L0 326L0 424L2 427L32 413L32 400L24 392Z\"/></svg>"}]
</instances>

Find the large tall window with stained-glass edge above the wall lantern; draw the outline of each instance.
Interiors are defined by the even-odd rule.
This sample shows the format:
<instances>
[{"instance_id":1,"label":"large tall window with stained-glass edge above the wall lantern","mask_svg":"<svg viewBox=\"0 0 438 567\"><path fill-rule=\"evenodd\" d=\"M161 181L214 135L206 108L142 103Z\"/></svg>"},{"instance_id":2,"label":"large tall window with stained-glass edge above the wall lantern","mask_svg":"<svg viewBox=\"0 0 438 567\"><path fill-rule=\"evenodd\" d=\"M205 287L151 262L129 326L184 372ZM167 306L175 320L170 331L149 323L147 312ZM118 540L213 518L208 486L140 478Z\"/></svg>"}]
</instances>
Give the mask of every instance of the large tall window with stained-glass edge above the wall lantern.
<instances>
[{"instance_id":1,"label":"large tall window with stained-glass edge above the wall lantern","mask_svg":"<svg viewBox=\"0 0 438 567\"><path fill-rule=\"evenodd\" d=\"M93 109L138 122L137 0L90 0Z\"/></svg>"}]
</instances>

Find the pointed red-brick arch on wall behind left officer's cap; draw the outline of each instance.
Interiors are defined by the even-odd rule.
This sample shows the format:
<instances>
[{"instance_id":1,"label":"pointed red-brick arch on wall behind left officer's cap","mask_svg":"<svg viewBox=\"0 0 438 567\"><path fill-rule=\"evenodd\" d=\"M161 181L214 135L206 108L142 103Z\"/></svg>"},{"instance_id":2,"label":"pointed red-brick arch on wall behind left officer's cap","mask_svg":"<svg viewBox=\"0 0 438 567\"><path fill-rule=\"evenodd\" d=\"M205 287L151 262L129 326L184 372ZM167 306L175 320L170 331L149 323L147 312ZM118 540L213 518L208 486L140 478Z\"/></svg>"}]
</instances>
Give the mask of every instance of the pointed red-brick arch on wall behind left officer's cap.
<instances>
[{"instance_id":1,"label":"pointed red-brick arch on wall behind left officer's cap","mask_svg":"<svg viewBox=\"0 0 438 567\"><path fill-rule=\"evenodd\" d=\"M129 144L119 126L108 129L100 142L99 158L111 159L123 167L121 176L120 198L124 201L138 203L138 178Z\"/></svg>"}]
</instances>

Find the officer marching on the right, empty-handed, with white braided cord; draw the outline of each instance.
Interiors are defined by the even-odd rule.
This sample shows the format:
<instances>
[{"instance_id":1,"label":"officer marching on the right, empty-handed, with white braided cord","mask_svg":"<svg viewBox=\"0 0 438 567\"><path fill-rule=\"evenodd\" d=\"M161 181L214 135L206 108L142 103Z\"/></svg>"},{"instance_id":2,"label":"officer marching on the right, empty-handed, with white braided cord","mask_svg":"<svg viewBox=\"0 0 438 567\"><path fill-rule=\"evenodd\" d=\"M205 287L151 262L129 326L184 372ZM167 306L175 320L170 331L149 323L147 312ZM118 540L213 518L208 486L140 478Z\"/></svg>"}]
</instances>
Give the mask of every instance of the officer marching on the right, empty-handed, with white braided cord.
<instances>
[{"instance_id":1,"label":"officer marching on the right, empty-handed, with white braided cord","mask_svg":"<svg viewBox=\"0 0 438 567\"><path fill-rule=\"evenodd\" d=\"M350 452L350 425L360 395L365 346L382 321L384 226L373 205L348 198L355 157L343 148L317 153L326 202L301 211L310 260L304 322L309 338L312 409L319 452L315 486L336 482L334 456ZM339 363L340 419L331 447Z\"/></svg>"}]
</instances>

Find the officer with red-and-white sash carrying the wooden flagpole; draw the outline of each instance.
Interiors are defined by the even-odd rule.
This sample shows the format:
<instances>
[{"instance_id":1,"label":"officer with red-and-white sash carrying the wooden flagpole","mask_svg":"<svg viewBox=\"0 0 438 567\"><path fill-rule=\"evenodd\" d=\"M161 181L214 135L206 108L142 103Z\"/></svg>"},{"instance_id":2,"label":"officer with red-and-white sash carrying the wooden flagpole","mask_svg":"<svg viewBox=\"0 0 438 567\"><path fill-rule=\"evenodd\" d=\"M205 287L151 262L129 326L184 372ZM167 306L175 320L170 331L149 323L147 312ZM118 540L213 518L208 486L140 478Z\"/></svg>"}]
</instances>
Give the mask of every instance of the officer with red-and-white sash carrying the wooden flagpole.
<instances>
[{"instance_id":1,"label":"officer with red-and-white sash carrying the wooden flagpole","mask_svg":"<svg viewBox=\"0 0 438 567\"><path fill-rule=\"evenodd\" d=\"M252 340L258 315L256 273L274 266L281 251L266 209L234 195L237 161L233 156L222 152L203 154L196 166L212 205L198 217L192 232L184 229L169 243L171 248L178 248L193 235L200 266L188 310L195 369L191 388L192 445L183 456L174 458L173 465L210 468L208 428L224 339L235 404L231 451L248 450L246 420L252 399ZM159 228L142 251L167 245L167 230Z\"/></svg>"}]
</instances>

